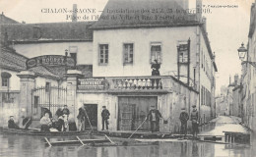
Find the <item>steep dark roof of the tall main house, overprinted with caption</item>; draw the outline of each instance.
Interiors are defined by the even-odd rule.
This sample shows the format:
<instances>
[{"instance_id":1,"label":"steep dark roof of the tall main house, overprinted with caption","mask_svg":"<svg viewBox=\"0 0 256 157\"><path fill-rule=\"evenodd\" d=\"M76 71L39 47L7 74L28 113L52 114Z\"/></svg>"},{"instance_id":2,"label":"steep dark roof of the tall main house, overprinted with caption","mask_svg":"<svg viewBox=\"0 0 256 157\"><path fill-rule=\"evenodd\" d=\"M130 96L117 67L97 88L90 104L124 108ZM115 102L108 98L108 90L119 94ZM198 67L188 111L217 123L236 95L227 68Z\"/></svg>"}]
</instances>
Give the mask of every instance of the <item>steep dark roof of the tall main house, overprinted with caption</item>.
<instances>
[{"instance_id":1,"label":"steep dark roof of the tall main house, overprinted with caption","mask_svg":"<svg viewBox=\"0 0 256 157\"><path fill-rule=\"evenodd\" d=\"M176 1L108 0L100 19L92 28L191 26L198 24L196 16L187 14Z\"/></svg>"}]
</instances>

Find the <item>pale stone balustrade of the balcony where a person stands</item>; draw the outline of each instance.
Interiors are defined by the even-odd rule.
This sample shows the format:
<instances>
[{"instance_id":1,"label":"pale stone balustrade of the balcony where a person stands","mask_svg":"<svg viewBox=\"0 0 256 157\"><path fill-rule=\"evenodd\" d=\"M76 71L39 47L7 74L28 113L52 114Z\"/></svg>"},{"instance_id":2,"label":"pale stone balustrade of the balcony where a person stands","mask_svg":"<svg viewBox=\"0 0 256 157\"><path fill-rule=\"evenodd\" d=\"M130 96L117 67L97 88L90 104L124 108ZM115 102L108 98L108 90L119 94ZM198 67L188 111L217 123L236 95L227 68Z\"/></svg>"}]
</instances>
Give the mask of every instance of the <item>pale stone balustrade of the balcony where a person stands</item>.
<instances>
[{"instance_id":1,"label":"pale stone balustrade of the balcony where a person stands","mask_svg":"<svg viewBox=\"0 0 256 157\"><path fill-rule=\"evenodd\" d=\"M109 89L162 89L162 80L166 77L127 77L127 78L107 78Z\"/></svg>"}]
</instances>

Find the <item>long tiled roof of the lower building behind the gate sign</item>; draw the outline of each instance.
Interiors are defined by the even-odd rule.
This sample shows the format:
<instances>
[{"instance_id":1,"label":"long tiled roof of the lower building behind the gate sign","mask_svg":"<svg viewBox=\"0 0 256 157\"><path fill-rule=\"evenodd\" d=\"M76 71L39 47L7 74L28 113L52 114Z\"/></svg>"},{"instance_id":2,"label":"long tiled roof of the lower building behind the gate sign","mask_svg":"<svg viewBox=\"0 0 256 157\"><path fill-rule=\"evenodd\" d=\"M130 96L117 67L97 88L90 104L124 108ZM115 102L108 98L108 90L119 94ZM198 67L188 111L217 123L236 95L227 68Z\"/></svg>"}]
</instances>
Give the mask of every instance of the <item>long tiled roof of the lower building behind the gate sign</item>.
<instances>
[{"instance_id":1,"label":"long tiled roof of the lower building behind the gate sign","mask_svg":"<svg viewBox=\"0 0 256 157\"><path fill-rule=\"evenodd\" d=\"M43 24L7 24L1 26L1 32L7 32L8 41L19 43L53 41L93 41L95 22L43 23Z\"/></svg>"}]
</instances>

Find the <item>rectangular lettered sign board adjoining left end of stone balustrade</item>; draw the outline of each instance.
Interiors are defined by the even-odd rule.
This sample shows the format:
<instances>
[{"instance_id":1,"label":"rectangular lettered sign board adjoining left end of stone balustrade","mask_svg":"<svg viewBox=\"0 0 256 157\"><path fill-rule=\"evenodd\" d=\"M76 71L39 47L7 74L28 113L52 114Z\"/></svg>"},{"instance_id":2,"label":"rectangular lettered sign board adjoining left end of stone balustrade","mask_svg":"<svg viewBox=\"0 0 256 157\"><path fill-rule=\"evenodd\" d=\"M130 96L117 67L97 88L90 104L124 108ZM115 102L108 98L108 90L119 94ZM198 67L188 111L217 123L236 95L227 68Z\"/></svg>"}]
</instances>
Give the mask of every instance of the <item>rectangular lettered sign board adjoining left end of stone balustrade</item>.
<instances>
[{"instance_id":1,"label":"rectangular lettered sign board adjoining left end of stone balustrade","mask_svg":"<svg viewBox=\"0 0 256 157\"><path fill-rule=\"evenodd\" d=\"M105 84L104 78L79 78L79 90L103 90Z\"/></svg>"}]
</instances>

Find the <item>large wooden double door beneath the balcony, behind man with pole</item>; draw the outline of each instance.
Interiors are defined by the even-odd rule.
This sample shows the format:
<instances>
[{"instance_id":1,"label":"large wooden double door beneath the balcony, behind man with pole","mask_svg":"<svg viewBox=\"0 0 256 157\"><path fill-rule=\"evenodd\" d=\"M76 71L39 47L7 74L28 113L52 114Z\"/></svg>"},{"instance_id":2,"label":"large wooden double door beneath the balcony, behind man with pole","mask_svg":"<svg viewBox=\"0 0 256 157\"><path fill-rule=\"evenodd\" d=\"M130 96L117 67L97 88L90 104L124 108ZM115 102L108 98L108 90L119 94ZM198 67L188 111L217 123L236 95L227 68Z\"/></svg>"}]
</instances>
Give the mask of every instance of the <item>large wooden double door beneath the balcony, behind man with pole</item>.
<instances>
[{"instance_id":1,"label":"large wooden double door beneath the balcony, behind man with pole","mask_svg":"<svg viewBox=\"0 0 256 157\"><path fill-rule=\"evenodd\" d=\"M135 131L143 123L153 105L158 108L157 96L118 97L118 130ZM150 123L145 122L139 131L150 131Z\"/></svg>"}]
</instances>

